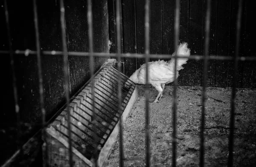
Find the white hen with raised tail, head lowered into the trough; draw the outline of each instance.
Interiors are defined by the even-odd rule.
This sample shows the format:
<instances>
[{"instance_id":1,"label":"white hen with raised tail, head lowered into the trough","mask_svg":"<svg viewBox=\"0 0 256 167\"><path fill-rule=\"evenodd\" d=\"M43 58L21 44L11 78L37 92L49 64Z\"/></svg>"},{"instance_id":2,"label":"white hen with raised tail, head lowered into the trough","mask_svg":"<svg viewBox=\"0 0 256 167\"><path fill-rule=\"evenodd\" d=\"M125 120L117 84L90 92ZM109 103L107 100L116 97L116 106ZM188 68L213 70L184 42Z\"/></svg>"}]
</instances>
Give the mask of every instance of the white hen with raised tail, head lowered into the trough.
<instances>
[{"instance_id":1,"label":"white hen with raised tail, head lowered into the trough","mask_svg":"<svg viewBox=\"0 0 256 167\"><path fill-rule=\"evenodd\" d=\"M175 55L175 52L172 56ZM188 49L187 43L181 43L177 49L178 56L189 56L190 49ZM182 65L186 64L188 58L177 59L177 72L176 78L178 77L178 71L183 69ZM129 78L134 83L146 84L146 64L143 64L140 69L137 69L133 75ZM164 60L148 62L148 83L154 86L159 92L154 103L159 102L161 97L163 97L163 89L165 84L171 83L175 80L175 60L172 58L168 62Z\"/></svg>"}]
</instances>

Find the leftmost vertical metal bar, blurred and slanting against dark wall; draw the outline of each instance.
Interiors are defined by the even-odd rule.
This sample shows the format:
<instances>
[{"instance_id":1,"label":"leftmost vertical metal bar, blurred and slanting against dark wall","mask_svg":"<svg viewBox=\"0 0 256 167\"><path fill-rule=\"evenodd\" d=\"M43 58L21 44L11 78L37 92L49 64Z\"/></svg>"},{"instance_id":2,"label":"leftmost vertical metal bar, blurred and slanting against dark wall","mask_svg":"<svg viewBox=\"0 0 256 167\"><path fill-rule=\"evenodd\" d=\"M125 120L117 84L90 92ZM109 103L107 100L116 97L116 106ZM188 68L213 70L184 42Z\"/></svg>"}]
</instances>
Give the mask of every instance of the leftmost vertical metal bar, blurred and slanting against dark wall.
<instances>
[{"instance_id":1,"label":"leftmost vertical metal bar, blurred and slanting against dark wall","mask_svg":"<svg viewBox=\"0 0 256 167\"><path fill-rule=\"evenodd\" d=\"M18 104L18 92L17 92L17 85L16 85L16 75L15 75L15 68L14 68L14 58L13 58L13 50L12 50L12 37L11 37L11 30L10 30L10 23L9 23L9 12L6 0L4 0L4 10L6 16L6 28L7 28L7 35L8 35L8 43L9 43L9 52L11 58L11 68L12 68L12 87L13 87L13 97L15 103L15 112L17 118L17 141L20 141L21 138L21 128L20 128L20 107ZM23 153L23 149L20 143L17 143L18 147L21 147L20 153Z\"/></svg>"}]
</instances>

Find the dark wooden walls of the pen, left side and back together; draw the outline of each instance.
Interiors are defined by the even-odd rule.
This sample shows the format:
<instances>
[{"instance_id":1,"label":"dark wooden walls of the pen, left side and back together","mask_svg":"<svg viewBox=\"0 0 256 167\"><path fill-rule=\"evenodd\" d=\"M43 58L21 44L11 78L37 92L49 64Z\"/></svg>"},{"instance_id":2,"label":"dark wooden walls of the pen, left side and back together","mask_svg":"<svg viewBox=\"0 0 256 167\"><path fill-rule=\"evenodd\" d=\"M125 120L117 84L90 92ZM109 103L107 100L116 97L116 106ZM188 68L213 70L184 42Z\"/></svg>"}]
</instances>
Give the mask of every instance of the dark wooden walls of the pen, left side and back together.
<instances>
[{"instance_id":1,"label":"dark wooden walls of the pen, left side and back together","mask_svg":"<svg viewBox=\"0 0 256 167\"><path fill-rule=\"evenodd\" d=\"M180 0L180 42L189 43L191 55L204 53L205 0ZM122 52L144 52L144 0L122 0ZM209 54L233 57L235 51L236 0L212 0ZM87 1L65 0L68 51L88 52ZM255 3L243 0L239 56L255 56ZM35 50L32 0L8 0L12 49ZM42 50L62 50L59 0L38 1L40 42ZM150 1L150 52L174 52L175 0ZM3 1L0 1L0 50L8 50L8 37ZM115 0L93 0L93 35L95 52L116 52ZM109 40L112 45L109 50ZM41 127L38 90L38 65L35 55L15 55L18 104L22 136L17 138L13 100L12 71L9 55L1 55L3 101L0 115L0 150L6 161L17 147ZM161 56L159 55L161 59ZM47 119L65 104L63 56L42 55L44 102ZM108 58L95 58L95 72ZM69 88L74 95L90 78L89 58L69 56ZM122 58L122 71L130 76L144 59ZM158 60L158 59L152 59ZM6 67L4 66L6 64ZM179 74L179 86L202 86L202 60L189 60ZM208 86L229 87L232 84L233 61L209 60ZM172 84L172 83L171 83ZM256 87L256 62L239 62L238 87ZM39 137L40 138L40 137ZM40 146L41 141L38 141ZM38 147L40 149L40 147Z\"/></svg>"}]
</instances>

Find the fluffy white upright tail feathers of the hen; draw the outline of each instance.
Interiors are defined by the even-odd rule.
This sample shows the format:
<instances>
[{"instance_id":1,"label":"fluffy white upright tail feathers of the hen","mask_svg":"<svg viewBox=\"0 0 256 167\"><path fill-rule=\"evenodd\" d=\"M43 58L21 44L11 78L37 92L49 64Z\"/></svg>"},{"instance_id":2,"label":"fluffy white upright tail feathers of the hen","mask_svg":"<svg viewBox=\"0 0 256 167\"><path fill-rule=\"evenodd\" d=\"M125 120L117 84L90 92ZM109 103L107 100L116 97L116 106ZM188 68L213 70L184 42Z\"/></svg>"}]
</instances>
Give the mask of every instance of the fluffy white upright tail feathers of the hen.
<instances>
[{"instance_id":1,"label":"fluffy white upright tail feathers of the hen","mask_svg":"<svg viewBox=\"0 0 256 167\"><path fill-rule=\"evenodd\" d=\"M176 52L176 51L175 51ZM172 54L172 56L175 55L175 52ZM188 57L190 56L190 49L188 48L188 44L186 42L180 43L177 49L177 56L184 56ZM189 60L189 58L177 58L177 70L183 69L183 64L186 64L186 61ZM168 63L171 65L175 65L175 58L172 58L168 61Z\"/></svg>"}]
</instances>

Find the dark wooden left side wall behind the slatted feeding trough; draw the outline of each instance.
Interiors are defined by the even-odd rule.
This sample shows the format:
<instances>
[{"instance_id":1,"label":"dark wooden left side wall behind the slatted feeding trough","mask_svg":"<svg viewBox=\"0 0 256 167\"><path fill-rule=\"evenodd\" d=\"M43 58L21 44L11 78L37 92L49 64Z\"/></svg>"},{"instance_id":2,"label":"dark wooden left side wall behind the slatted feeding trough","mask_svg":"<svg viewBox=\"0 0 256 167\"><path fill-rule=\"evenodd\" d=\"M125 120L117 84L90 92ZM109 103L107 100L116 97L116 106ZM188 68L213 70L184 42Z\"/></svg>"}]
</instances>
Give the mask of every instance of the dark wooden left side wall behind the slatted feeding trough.
<instances>
[{"instance_id":1,"label":"dark wooden left side wall behind the slatted feeding trough","mask_svg":"<svg viewBox=\"0 0 256 167\"><path fill-rule=\"evenodd\" d=\"M62 50L59 0L39 0L38 17L42 50ZM7 0L14 50L35 50L35 30L32 0ZM87 1L65 0L68 51L88 52ZM0 1L0 50L8 50L8 38L3 1ZM108 1L93 0L94 51L109 52ZM3 101L0 112L0 164L41 127L39 105L38 65L36 55L15 55L18 104L22 121L22 138L17 138L16 114L12 89L9 55L1 55ZM42 55L44 102L47 119L65 104L63 56ZM108 58L95 58L95 72ZM89 58L69 56L70 95L74 95L90 78ZM26 125L25 125L26 123ZM18 143L17 143L18 142ZM39 147L40 148L40 147Z\"/></svg>"}]
</instances>

